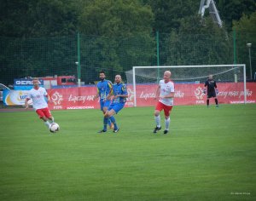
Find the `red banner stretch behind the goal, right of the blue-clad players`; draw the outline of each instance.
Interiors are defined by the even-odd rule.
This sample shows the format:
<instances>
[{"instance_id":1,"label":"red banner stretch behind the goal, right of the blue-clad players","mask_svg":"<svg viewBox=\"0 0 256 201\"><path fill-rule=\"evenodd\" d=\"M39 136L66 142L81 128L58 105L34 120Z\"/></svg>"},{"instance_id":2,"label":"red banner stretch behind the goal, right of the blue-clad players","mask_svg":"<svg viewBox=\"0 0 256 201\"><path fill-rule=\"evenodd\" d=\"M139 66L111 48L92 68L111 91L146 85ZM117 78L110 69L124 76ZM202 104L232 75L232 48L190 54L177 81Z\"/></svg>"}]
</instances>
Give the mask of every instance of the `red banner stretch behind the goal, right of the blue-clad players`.
<instances>
[{"instance_id":1,"label":"red banner stretch behind the goal, right of the blue-clad players","mask_svg":"<svg viewBox=\"0 0 256 201\"><path fill-rule=\"evenodd\" d=\"M137 106L155 106L155 85L137 85ZM201 105L207 103L203 93L203 83L175 84L174 105ZM244 102L243 83L218 83L219 104L236 104ZM132 89L128 104L132 105ZM256 102L256 83L247 83L247 103ZM131 101L131 102L130 102ZM210 100L211 101L211 100ZM212 100L214 102L214 100Z\"/></svg>"}]
</instances>

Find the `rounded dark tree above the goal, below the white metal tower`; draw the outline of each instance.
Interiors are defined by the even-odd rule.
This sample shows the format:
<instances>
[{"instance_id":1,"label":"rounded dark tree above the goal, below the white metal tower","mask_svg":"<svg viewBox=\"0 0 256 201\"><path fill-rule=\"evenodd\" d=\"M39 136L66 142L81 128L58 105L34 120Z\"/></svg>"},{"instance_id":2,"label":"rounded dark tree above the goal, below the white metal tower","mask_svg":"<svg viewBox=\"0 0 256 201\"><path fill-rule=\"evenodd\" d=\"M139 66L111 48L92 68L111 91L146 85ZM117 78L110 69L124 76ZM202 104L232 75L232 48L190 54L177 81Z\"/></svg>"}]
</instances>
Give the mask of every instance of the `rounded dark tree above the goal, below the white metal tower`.
<instances>
[{"instance_id":1,"label":"rounded dark tree above the goal, below the white metal tower","mask_svg":"<svg viewBox=\"0 0 256 201\"><path fill-rule=\"evenodd\" d=\"M166 54L165 65L230 64L229 38L226 32L206 18L204 26L199 16L181 20L178 31L172 31L162 42ZM163 55L162 57L165 57Z\"/></svg>"}]
</instances>

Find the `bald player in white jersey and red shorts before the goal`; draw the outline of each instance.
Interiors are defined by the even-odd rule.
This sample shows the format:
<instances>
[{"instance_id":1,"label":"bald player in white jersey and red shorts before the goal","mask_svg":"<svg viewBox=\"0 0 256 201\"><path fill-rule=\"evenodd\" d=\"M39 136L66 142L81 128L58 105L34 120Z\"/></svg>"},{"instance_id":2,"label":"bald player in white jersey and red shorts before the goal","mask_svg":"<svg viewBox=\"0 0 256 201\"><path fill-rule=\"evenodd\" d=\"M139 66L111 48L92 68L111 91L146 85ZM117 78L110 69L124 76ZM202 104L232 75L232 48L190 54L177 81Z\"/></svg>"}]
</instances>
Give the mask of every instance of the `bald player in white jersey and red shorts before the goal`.
<instances>
[{"instance_id":1,"label":"bald player in white jersey and red shorts before the goal","mask_svg":"<svg viewBox=\"0 0 256 201\"><path fill-rule=\"evenodd\" d=\"M171 81L172 73L170 71L164 72L164 79L160 80L159 86L155 93L155 98L159 101L155 106L154 110L154 120L156 127L154 128L154 133L161 129L160 125L160 112L164 110L165 112L165 123L166 129L164 134L169 132L170 125L170 112L172 111L173 106L173 97L174 97L174 83Z\"/></svg>"}]
</instances>

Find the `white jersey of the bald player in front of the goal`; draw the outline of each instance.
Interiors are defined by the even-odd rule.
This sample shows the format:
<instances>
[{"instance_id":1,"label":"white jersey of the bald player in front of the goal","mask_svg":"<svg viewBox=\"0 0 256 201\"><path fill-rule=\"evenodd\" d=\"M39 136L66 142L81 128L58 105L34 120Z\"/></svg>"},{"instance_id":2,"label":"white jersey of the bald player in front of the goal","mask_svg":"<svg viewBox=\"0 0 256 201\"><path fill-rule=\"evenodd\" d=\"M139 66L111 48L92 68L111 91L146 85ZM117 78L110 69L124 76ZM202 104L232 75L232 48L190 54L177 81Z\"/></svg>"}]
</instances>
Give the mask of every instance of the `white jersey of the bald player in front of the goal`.
<instances>
[{"instance_id":1,"label":"white jersey of the bald player in front of the goal","mask_svg":"<svg viewBox=\"0 0 256 201\"><path fill-rule=\"evenodd\" d=\"M174 92L174 83L169 81L165 83L164 79L160 80L160 96L170 95L170 93ZM159 100L161 103L165 104L166 106L173 106L173 98L160 98Z\"/></svg>"}]
</instances>

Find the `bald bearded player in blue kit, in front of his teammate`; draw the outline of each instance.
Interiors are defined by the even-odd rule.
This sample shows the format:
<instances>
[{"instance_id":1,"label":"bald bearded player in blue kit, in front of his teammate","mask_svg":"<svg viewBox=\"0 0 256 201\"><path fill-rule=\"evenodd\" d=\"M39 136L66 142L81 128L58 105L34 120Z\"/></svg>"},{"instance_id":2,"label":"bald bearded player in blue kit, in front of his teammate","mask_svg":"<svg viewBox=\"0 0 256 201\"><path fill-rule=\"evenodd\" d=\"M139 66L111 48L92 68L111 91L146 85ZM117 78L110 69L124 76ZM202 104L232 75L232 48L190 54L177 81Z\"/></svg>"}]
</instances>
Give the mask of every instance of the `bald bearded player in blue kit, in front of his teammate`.
<instances>
[{"instance_id":1,"label":"bald bearded player in blue kit, in front of his teammate","mask_svg":"<svg viewBox=\"0 0 256 201\"><path fill-rule=\"evenodd\" d=\"M116 75L114 81L115 83L113 83L112 94L109 94L107 97L107 99L110 99L110 97L113 95L113 100L111 105L108 107L108 111L105 113L104 128L102 129L102 132L107 131L108 118L110 118L111 122L113 123L113 132L117 133L119 131L119 127L117 126L113 115L117 114L125 106L125 101L128 97L127 89L125 83L122 83L121 76Z\"/></svg>"}]
</instances>

